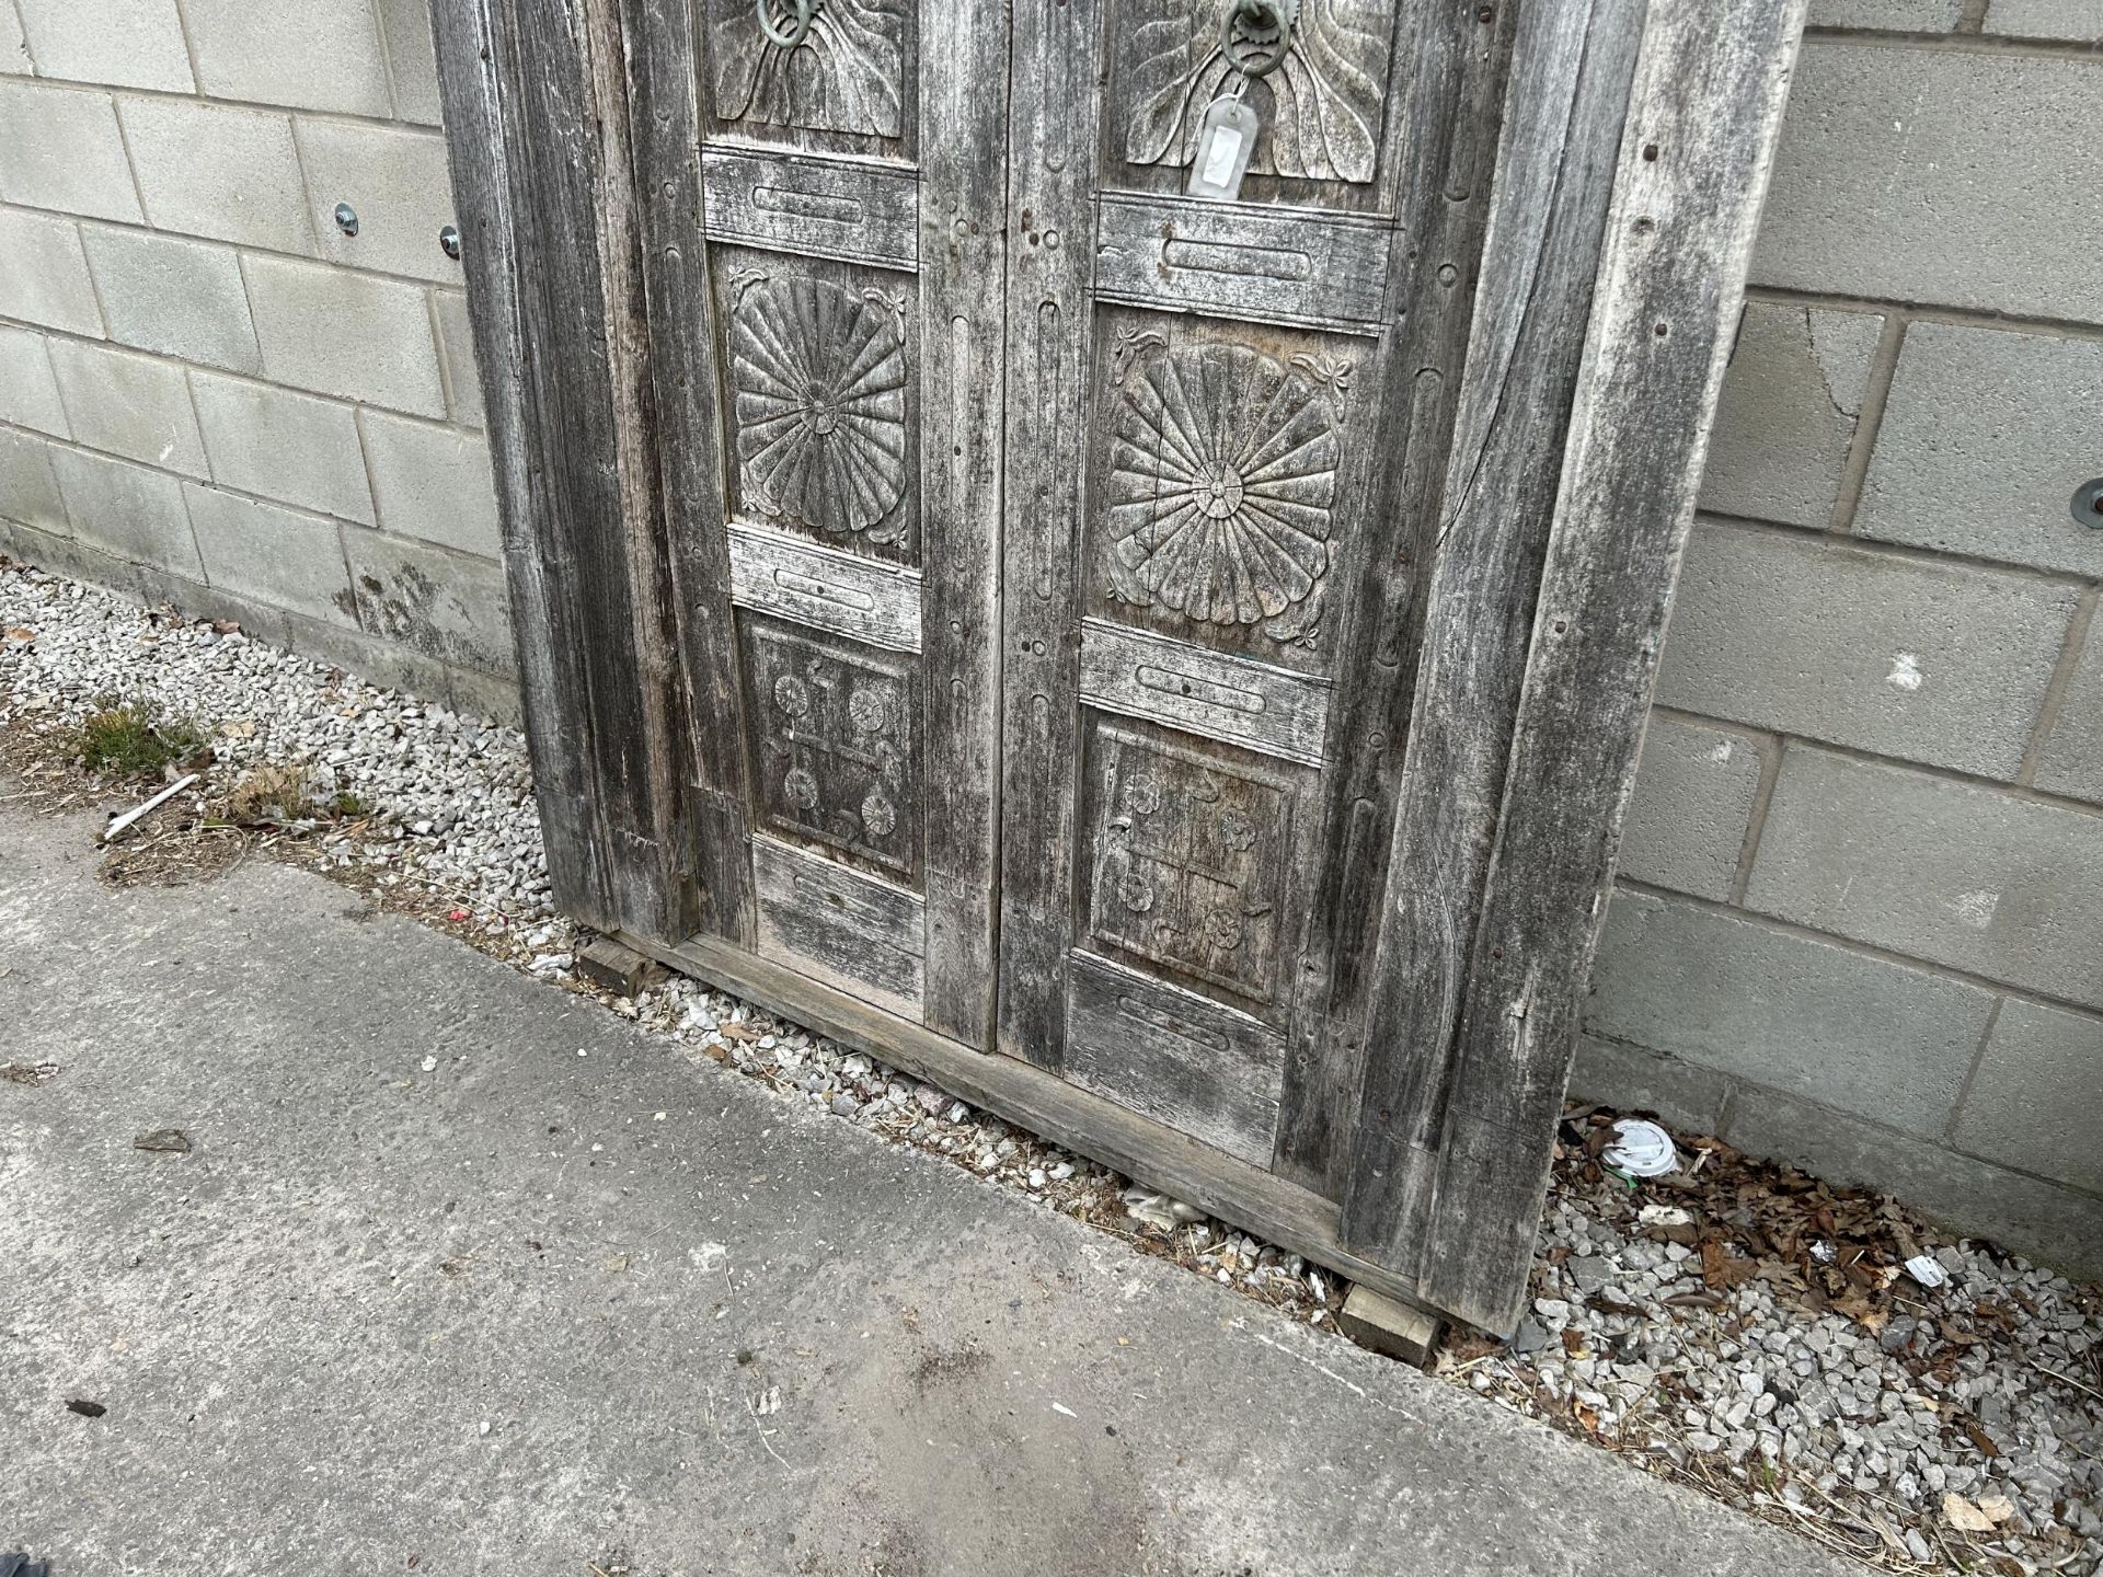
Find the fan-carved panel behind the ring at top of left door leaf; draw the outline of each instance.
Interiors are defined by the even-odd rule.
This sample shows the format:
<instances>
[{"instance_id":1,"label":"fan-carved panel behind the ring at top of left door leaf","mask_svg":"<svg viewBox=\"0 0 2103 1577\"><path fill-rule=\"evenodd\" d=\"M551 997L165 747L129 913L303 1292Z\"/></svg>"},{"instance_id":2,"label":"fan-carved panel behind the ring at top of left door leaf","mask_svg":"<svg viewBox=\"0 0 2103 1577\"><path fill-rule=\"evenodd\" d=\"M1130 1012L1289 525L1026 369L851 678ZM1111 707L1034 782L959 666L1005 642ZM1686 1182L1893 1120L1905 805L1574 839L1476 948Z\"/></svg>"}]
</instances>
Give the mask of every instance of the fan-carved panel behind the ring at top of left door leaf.
<instances>
[{"instance_id":1,"label":"fan-carved panel behind the ring at top of left door leaf","mask_svg":"<svg viewBox=\"0 0 2103 1577\"><path fill-rule=\"evenodd\" d=\"M778 34L795 6L765 0ZM906 0L816 0L795 44L768 38L751 0L715 0L715 114L726 122L898 139Z\"/></svg>"}]
</instances>

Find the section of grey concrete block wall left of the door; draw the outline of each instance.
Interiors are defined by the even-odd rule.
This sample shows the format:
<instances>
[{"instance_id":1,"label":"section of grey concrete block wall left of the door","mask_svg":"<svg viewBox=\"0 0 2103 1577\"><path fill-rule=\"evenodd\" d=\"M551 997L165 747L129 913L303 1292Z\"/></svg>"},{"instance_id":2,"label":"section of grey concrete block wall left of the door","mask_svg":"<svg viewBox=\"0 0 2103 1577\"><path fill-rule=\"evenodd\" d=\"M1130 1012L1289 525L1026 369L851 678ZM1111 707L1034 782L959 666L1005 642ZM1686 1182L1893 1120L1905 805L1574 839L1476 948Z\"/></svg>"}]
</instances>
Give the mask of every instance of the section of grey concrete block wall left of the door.
<instances>
[{"instance_id":1,"label":"section of grey concrete block wall left of the door","mask_svg":"<svg viewBox=\"0 0 2103 1577\"><path fill-rule=\"evenodd\" d=\"M0 553L515 715L450 223L425 0L0 0Z\"/></svg>"}]
</instances>

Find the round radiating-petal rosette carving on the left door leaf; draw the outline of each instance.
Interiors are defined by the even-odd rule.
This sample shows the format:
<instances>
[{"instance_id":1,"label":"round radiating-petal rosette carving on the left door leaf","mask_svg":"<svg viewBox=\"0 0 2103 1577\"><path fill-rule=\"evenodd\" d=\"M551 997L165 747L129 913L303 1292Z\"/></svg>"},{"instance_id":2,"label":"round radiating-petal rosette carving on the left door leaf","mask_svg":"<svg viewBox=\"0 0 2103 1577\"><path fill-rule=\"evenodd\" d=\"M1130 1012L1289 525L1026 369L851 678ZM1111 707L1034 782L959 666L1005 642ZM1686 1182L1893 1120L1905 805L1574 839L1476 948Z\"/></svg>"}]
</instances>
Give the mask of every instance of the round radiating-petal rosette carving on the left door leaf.
<instances>
[{"instance_id":1,"label":"round radiating-petal rosette carving on the left door leaf","mask_svg":"<svg viewBox=\"0 0 2103 1577\"><path fill-rule=\"evenodd\" d=\"M730 355L744 503L829 536L902 538L900 309L826 280L742 275Z\"/></svg>"}]
</instances>

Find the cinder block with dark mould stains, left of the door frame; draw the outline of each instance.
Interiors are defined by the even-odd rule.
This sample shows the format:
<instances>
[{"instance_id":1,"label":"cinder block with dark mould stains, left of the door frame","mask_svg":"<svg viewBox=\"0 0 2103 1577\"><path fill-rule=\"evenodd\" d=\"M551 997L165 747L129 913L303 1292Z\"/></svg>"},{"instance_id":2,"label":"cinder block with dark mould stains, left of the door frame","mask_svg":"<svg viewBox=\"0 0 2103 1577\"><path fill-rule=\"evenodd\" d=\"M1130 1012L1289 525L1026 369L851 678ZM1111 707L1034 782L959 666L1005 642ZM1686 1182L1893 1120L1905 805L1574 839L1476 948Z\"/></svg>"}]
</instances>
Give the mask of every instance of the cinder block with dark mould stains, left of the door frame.
<instances>
[{"instance_id":1,"label":"cinder block with dark mould stains, left of the door frame","mask_svg":"<svg viewBox=\"0 0 2103 1577\"><path fill-rule=\"evenodd\" d=\"M505 572L488 559L448 553L381 532L343 532L358 622L440 662L511 675L511 610Z\"/></svg>"}]
</instances>

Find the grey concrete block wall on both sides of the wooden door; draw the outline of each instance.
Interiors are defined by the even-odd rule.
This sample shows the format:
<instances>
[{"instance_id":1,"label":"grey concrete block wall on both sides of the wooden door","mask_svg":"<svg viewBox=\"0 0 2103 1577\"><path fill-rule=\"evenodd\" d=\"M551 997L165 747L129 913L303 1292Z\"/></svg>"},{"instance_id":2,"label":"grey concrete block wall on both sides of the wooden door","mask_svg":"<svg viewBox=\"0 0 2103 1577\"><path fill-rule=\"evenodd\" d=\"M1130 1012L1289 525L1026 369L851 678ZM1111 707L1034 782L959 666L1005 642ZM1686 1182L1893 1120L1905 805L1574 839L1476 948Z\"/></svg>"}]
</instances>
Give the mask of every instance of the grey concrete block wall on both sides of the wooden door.
<instances>
[{"instance_id":1,"label":"grey concrete block wall on both sides of the wooden door","mask_svg":"<svg viewBox=\"0 0 2103 1577\"><path fill-rule=\"evenodd\" d=\"M1815 0L1575 1089L2103 1272L2099 46ZM511 711L448 219L425 0L0 0L0 551Z\"/></svg>"}]
</instances>

